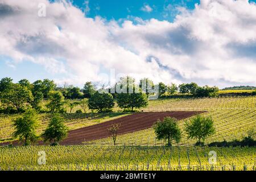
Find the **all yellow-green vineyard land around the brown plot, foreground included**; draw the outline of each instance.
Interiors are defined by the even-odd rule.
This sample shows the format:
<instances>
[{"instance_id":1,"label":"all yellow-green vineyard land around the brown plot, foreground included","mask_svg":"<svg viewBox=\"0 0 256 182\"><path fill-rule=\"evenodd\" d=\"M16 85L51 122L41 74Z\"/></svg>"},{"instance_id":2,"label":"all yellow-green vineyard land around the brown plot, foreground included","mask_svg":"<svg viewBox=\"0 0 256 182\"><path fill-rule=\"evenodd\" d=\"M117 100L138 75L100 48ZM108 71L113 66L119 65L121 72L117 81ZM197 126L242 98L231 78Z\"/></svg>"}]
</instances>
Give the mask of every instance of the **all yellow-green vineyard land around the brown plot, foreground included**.
<instances>
[{"instance_id":1,"label":"all yellow-green vineyard land around the brown plot, foreground included","mask_svg":"<svg viewBox=\"0 0 256 182\"><path fill-rule=\"evenodd\" d=\"M118 110L116 107L115 110ZM205 140L210 142L242 139L256 126L256 97L166 98L149 102L143 113L152 111L206 111L202 115L213 118L216 133ZM18 115L2 115L1 139L11 139L11 119ZM38 133L46 127L48 115L42 118ZM109 120L132 117L130 113L82 113L65 115L69 129L96 126ZM184 122L181 141L166 147L155 139L152 128L119 134L117 146L111 138L83 142L77 146L0 147L2 170L255 170L255 147L195 147L194 139L187 139ZM113 120L114 121L114 120ZM38 152L46 152L46 164L38 165ZM209 151L217 154L217 163L208 162Z\"/></svg>"}]
</instances>

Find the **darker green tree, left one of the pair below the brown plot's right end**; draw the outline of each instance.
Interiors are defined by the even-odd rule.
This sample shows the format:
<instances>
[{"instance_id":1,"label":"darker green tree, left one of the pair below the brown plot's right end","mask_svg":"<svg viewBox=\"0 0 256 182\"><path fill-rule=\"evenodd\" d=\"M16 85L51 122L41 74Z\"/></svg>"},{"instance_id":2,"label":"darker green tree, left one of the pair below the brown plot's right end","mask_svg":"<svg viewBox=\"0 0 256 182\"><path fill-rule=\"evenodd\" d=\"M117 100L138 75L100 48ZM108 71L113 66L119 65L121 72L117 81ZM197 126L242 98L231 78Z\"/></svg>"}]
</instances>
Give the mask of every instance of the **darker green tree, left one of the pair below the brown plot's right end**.
<instances>
[{"instance_id":1,"label":"darker green tree, left one of the pair below the brown plot's right end","mask_svg":"<svg viewBox=\"0 0 256 182\"><path fill-rule=\"evenodd\" d=\"M156 138L158 140L165 139L168 141L168 146L171 146L172 140L176 143L180 142L181 131L177 126L177 119L165 117L163 121L158 121L154 124Z\"/></svg>"}]
</instances>

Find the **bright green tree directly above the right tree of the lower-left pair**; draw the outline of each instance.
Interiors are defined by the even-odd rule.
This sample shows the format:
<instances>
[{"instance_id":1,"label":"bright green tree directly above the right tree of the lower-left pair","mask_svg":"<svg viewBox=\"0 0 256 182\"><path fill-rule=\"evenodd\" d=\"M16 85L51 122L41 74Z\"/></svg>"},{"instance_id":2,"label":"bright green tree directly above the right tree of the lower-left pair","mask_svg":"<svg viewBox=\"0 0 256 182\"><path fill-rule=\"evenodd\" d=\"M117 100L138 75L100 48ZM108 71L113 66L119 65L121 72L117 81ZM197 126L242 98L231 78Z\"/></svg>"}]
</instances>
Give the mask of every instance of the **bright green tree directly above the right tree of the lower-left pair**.
<instances>
[{"instance_id":1,"label":"bright green tree directly above the right tree of the lower-left pair","mask_svg":"<svg viewBox=\"0 0 256 182\"><path fill-rule=\"evenodd\" d=\"M60 91L50 91L48 97L49 103L46 106L52 113L63 109L64 96Z\"/></svg>"}]
</instances>

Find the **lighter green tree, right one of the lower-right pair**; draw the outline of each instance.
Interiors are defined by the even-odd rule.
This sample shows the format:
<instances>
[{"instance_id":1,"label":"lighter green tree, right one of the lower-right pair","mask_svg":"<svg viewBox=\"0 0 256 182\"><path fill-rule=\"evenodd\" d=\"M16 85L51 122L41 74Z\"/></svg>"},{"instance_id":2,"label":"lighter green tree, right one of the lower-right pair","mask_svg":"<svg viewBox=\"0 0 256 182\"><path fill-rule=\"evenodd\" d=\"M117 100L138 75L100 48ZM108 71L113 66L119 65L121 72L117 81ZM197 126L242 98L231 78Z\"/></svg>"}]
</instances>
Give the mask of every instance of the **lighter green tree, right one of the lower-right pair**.
<instances>
[{"instance_id":1,"label":"lighter green tree, right one of the lower-right pair","mask_svg":"<svg viewBox=\"0 0 256 182\"><path fill-rule=\"evenodd\" d=\"M204 140L210 135L214 134L213 120L210 117L203 117L196 115L190 121L185 122L185 131L189 138L195 138L198 140L196 144L203 144L201 139Z\"/></svg>"}]
</instances>

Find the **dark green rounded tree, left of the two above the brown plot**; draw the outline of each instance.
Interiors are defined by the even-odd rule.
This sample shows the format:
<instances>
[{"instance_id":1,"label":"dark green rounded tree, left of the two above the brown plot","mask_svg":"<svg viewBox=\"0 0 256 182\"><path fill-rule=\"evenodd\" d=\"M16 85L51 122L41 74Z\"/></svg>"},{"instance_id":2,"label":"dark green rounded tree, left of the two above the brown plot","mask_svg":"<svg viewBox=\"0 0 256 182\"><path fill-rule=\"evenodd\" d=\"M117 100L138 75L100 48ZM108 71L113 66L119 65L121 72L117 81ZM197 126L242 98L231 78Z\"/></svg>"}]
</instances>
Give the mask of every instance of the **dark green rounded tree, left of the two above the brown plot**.
<instances>
[{"instance_id":1,"label":"dark green rounded tree, left of the two above the brown plot","mask_svg":"<svg viewBox=\"0 0 256 182\"><path fill-rule=\"evenodd\" d=\"M89 98L89 109L102 111L103 109L112 109L114 107L114 99L110 93L96 92Z\"/></svg>"}]
</instances>

